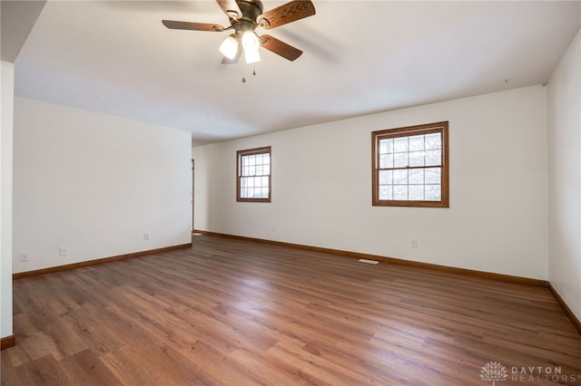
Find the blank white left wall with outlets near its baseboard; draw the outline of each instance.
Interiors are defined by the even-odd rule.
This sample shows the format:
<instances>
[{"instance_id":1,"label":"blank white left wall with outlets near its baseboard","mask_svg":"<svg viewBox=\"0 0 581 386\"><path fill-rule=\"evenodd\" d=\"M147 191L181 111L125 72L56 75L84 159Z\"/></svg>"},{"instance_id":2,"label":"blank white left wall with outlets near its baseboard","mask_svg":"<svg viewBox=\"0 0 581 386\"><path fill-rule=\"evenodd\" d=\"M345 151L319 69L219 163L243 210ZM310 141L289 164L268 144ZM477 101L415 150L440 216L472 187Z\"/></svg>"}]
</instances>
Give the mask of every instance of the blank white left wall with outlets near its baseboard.
<instances>
[{"instance_id":1,"label":"blank white left wall with outlets near its baseboard","mask_svg":"<svg viewBox=\"0 0 581 386\"><path fill-rule=\"evenodd\" d=\"M15 273L191 241L189 132L21 97L14 127Z\"/></svg>"}]
</instances>

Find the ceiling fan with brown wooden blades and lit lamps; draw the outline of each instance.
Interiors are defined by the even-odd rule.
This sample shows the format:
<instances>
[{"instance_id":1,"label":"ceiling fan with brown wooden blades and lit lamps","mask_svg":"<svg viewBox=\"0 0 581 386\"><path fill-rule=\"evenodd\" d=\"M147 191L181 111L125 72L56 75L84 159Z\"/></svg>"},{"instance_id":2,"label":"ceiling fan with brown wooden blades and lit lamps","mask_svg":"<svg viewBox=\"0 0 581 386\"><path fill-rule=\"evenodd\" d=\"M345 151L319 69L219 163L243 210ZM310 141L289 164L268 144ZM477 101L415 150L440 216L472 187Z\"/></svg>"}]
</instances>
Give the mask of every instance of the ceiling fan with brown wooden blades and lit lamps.
<instances>
[{"instance_id":1,"label":"ceiling fan with brown wooden blades and lit lamps","mask_svg":"<svg viewBox=\"0 0 581 386\"><path fill-rule=\"evenodd\" d=\"M278 6L262 13L260 0L216 0L224 14L230 20L230 26L220 24L178 22L162 20L163 25L175 30L192 30L222 32L233 30L220 45L220 52L224 55L222 63L237 63L244 53L246 63L255 63L261 60L259 48L281 55L290 61L297 59L302 51L290 44L281 42L269 34L256 34L257 27L271 29L283 24L315 14L315 6L310 0L293 0L290 3Z\"/></svg>"}]
</instances>

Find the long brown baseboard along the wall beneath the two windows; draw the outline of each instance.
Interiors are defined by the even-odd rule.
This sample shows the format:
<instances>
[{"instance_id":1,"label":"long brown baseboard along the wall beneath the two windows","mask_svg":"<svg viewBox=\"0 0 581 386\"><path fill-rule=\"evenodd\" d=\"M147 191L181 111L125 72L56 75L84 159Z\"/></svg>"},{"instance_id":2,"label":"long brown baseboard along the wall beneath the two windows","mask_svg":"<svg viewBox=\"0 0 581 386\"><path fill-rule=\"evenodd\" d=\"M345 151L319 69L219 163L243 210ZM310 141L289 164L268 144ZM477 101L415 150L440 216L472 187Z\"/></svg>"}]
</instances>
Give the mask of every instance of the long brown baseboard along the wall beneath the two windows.
<instances>
[{"instance_id":1,"label":"long brown baseboard along the wall beneath the two windows","mask_svg":"<svg viewBox=\"0 0 581 386\"><path fill-rule=\"evenodd\" d=\"M228 235L228 234L209 232L209 231L199 230L199 229L195 230L195 232L201 233L203 235L208 235L208 236L221 236L221 237L236 238L239 240L256 241L259 243L266 243L266 244L271 244L271 245L276 245L276 246L291 246L293 248L305 249L305 250L309 250L309 251L313 251L313 252L329 253L329 254L338 255L338 256L354 257L354 258L358 258L358 259L365 258L365 259L369 259L369 260L378 260L378 261L382 261L385 263L391 263L391 264L416 266L419 268L432 269L432 270L441 271L441 272L448 272L448 273L461 274L461 275L470 275L470 276L481 277L481 278L486 278L486 279L499 280L502 282L517 283L517 284L521 284L521 285L534 285L534 286L547 287L546 280L533 279L533 278L529 278L529 277L495 274L492 272L477 271L477 270L467 269L467 268L458 268L455 266L421 263L418 261L405 260L405 259L400 259L400 258L396 258L396 257L361 254L358 252L343 251L340 249L324 248L324 247L320 247L320 246L303 246L300 244L285 243L282 241L273 241L273 240L266 240L263 238L254 238L254 237L247 237L247 236Z\"/></svg>"}]
</instances>

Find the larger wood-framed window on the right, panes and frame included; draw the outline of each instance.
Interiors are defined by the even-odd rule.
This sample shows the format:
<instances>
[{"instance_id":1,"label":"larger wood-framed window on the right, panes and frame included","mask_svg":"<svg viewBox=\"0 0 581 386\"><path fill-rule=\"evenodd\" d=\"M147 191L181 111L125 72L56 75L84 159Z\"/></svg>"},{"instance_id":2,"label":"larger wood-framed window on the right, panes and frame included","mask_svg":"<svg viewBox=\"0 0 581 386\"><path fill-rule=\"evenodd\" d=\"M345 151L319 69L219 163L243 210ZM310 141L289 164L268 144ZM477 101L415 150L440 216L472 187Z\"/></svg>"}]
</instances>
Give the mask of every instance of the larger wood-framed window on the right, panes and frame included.
<instances>
[{"instance_id":1,"label":"larger wood-framed window on the right, panes and frame included","mask_svg":"<svg viewBox=\"0 0 581 386\"><path fill-rule=\"evenodd\" d=\"M448 121L373 131L373 205L449 207Z\"/></svg>"}]
</instances>

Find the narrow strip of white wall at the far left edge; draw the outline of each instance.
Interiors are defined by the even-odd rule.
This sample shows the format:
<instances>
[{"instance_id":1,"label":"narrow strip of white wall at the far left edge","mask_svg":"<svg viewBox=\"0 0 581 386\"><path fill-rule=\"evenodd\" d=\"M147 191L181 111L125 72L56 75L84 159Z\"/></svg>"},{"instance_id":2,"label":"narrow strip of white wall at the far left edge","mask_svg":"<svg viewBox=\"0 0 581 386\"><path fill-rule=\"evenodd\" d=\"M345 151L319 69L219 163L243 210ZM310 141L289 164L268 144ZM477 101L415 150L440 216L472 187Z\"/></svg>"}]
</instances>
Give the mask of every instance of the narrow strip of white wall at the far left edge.
<instances>
[{"instance_id":1,"label":"narrow strip of white wall at the far left edge","mask_svg":"<svg viewBox=\"0 0 581 386\"><path fill-rule=\"evenodd\" d=\"M2 62L0 135L0 336L12 335L12 141L15 66Z\"/></svg>"}]
</instances>

